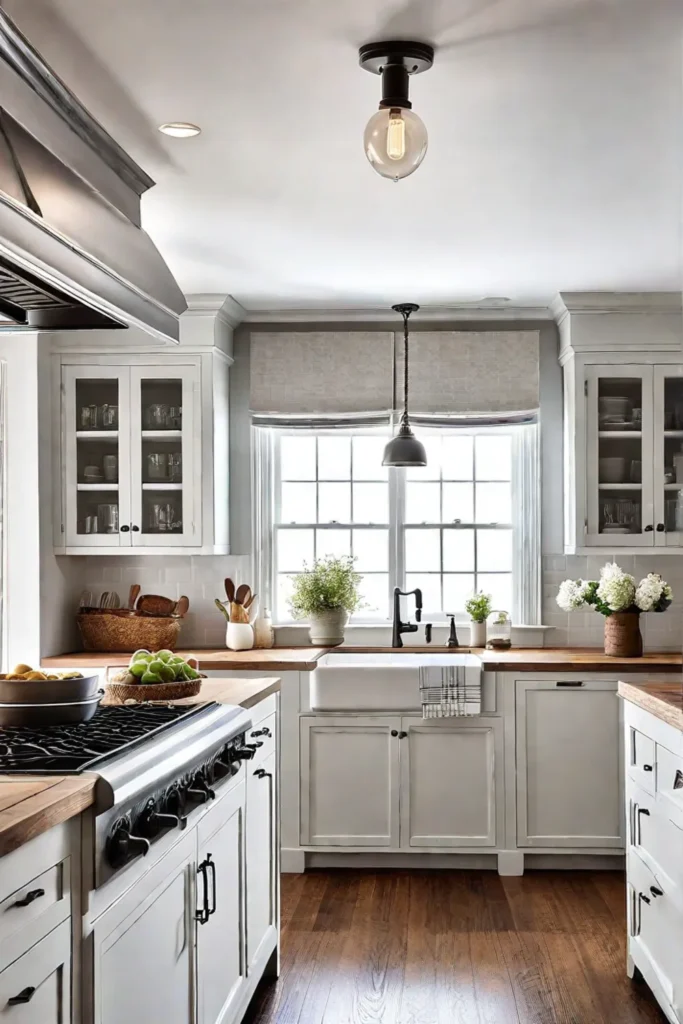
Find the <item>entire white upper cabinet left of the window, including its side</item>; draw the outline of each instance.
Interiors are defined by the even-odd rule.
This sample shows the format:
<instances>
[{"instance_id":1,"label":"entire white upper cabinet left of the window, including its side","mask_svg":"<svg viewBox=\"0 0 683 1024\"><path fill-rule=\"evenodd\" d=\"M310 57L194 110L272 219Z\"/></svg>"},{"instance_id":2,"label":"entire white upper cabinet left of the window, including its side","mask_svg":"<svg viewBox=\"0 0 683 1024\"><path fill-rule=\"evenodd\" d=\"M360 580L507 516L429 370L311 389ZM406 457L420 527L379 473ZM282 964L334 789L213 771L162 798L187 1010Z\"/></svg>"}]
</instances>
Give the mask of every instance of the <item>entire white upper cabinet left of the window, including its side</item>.
<instances>
[{"instance_id":1,"label":"entire white upper cabinet left of the window, including its side","mask_svg":"<svg viewBox=\"0 0 683 1024\"><path fill-rule=\"evenodd\" d=\"M59 376L57 552L226 553L227 436L214 433L227 431L227 366L211 355L96 366L63 356Z\"/></svg>"}]
</instances>

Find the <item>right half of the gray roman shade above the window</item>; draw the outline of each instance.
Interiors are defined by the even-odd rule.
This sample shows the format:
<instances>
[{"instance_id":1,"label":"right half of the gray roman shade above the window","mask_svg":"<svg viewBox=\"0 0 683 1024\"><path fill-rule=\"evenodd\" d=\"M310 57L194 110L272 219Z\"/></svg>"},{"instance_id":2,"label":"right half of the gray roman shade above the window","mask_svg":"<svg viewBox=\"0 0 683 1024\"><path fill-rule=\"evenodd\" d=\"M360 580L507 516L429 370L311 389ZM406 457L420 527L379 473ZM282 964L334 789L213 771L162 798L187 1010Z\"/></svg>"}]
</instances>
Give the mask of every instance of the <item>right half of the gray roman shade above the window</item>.
<instances>
[{"instance_id":1,"label":"right half of the gray roman shade above the window","mask_svg":"<svg viewBox=\"0 0 683 1024\"><path fill-rule=\"evenodd\" d=\"M538 331L415 331L411 413L417 417L527 413L539 408ZM403 379L402 345L396 344Z\"/></svg>"}]
</instances>

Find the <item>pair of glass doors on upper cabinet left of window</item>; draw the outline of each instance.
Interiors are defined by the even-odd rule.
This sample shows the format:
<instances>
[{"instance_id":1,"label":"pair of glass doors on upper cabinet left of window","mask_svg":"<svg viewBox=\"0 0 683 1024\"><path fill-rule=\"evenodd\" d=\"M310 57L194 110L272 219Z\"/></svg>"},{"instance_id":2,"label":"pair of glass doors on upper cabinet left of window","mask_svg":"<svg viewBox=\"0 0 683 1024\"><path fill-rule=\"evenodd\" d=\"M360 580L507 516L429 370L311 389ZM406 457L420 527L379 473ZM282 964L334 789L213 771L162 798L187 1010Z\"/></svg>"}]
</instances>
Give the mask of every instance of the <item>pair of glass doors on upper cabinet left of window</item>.
<instances>
[{"instance_id":1,"label":"pair of glass doors on upper cabinet left of window","mask_svg":"<svg viewBox=\"0 0 683 1024\"><path fill-rule=\"evenodd\" d=\"M199 372L62 368L67 548L201 545Z\"/></svg>"}]
</instances>

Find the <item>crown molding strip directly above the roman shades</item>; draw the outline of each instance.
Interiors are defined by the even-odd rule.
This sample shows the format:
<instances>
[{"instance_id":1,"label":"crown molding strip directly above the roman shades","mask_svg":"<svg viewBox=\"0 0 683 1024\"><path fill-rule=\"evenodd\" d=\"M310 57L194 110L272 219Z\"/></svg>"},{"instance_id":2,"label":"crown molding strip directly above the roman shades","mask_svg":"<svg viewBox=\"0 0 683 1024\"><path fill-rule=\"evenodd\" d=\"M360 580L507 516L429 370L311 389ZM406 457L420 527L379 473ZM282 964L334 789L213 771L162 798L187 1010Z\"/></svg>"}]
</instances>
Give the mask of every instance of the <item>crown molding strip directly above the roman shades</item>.
<instances>
[{"instance_id":1,"label":"crown molding strip directly above the roman shades","mask_svg":"<svg viewBox=\"0 0 683 1024\"><path fill-rule=\"evenodd\" d=\"M285 309L248 309L246 324L317 324L317 323L387 323L396 318L388 306L321 306ZM552 319L547 305L529 303L472 303L424 305L416 321L548 321Z\"/></svg>"}]
</instances>

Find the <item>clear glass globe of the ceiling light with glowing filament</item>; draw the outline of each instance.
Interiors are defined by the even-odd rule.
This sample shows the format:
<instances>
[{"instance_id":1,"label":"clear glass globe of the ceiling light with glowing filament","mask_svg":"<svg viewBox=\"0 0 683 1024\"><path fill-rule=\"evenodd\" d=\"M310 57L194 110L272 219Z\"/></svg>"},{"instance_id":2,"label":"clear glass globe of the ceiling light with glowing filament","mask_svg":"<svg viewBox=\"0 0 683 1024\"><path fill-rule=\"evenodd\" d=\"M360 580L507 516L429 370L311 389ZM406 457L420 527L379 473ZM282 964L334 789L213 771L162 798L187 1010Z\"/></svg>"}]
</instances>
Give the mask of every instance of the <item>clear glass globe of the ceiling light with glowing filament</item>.
<instances>
[{"instance_id":1,"label":"clear glass globe of the ceiling light with glowing filament","mask_svg":"<svg viewBox=\"0 0 683 1024\"><path fill-rule=\"evenodd\" d=\"M407 178L427 152L427 129L413 111L381 106L366 125L366 156L384 178Z\"/></svg>"}]
</instances>

